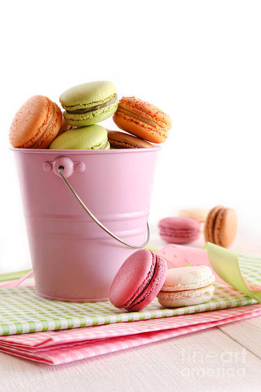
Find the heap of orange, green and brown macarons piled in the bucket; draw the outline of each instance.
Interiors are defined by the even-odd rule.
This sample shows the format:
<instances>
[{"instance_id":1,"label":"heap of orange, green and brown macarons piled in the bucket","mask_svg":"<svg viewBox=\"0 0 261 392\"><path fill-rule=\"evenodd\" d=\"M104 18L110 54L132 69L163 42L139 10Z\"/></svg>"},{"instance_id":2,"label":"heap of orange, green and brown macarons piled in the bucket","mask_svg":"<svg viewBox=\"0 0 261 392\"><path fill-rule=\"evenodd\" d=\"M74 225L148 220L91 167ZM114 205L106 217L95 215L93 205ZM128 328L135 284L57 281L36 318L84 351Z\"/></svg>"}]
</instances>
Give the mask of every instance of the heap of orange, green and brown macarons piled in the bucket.
<instances>
[{"instance_id":1,"label":"heap of orange, green and brown macarons piled in the bucket","mask_svg":"<svg viewBox=\"0 0 261 392\"><path fill-rule=\"evenodd\" d=\"M169 116L135 97L118 100L109 81L80 84L60 96L64 109L49 98L29 98L16 113L9 141L18 148L104 149L150 148L163 143L171 127ZM124 132L107 130L101 121L113 116Z\"/></svg>"}]
</instances>

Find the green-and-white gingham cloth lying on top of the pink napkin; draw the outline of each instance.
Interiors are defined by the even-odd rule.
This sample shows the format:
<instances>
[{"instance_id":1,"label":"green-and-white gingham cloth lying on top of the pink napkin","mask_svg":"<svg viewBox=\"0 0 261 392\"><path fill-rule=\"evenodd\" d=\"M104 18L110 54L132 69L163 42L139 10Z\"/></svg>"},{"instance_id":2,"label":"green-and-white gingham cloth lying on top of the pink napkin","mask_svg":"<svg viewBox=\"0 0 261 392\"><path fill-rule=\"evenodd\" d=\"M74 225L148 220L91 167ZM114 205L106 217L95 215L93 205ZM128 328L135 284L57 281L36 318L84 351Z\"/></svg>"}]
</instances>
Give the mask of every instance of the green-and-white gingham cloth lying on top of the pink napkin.
<instances>
[{"instance_id":1,"label":"green-and-white gingham cloth lying on top of the pink napkin","mask_svg":"<svg viewBox=\"0 0 261 392\"><path fill-rule=\"evenodd\" d=\"M0 290L0 335L78 328L206 312L253 304L237 290L215 285L214 298L200 305L164 309L155 299L141 312L127 313L110 302L70 303L43 299L32 287Z\"/></svg>"}]
</instances>

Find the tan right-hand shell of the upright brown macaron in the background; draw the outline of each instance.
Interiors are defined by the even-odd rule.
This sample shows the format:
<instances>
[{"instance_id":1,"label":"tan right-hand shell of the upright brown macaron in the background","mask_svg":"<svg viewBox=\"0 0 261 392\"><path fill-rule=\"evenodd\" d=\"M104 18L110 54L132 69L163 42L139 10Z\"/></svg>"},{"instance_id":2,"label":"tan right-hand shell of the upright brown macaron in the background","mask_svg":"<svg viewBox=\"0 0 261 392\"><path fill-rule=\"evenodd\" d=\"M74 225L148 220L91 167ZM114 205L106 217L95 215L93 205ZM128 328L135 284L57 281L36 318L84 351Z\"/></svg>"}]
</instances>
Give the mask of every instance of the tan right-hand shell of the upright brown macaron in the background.
<instances>
[{"instance_id":1,"label":"tan right-hand shell of the upright brown macaron in the background","mask_svg":"<svg viewBox=\"0 0 261 392\"><path fill-rule=\"evenodd\" d=\"M229 247L237 236L237 214L232 208L222 208L214 222L214 243Z\"/></svg>"}]
</instances>

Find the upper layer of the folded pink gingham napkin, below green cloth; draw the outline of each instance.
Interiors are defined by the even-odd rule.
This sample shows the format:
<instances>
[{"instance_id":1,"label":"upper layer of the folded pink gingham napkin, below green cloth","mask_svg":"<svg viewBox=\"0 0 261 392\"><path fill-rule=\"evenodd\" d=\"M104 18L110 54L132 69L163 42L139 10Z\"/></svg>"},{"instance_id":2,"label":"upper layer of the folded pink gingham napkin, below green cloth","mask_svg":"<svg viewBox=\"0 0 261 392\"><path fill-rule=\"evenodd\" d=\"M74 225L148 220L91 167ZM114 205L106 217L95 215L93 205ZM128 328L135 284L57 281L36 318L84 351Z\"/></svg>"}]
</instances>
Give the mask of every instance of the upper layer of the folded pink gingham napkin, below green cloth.
<instances>
[{"instance_id":1,"label":"upper layer of the folded pink gingham napkin, below green cloth","mask_svg":"<svg viewBox=\"0 0 261 392\"><path fill-rule=\"evenodd\" d=\"M254 304L238 308L222 309L218 312L211 311L205 313L191 313L181 315L179 317L174 316L162 319L140 320L139 322L130 321L128 323L105 324L65 330L9 335L0 337L0 344L42 349L43 347L57 344L68 344L94 339L134 335L170 328L180 328L195 324L204 324L207 322L244 315L252 311L256 312L259 308L261 309L260 304Z\"/></svg>"}]
</instances>

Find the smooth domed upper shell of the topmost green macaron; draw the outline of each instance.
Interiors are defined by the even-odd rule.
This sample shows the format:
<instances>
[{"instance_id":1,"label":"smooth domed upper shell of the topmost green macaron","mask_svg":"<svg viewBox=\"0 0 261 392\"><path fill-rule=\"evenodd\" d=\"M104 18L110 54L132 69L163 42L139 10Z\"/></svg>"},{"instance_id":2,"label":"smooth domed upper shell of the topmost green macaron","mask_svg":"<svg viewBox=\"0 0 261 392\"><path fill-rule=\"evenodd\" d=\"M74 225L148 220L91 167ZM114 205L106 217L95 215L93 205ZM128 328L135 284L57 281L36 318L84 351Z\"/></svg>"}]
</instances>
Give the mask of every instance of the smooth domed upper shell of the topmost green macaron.
<instances>
[{"instance_id":1,"label":"smooth domed upper shell of the topmost green macaron","mask_svg":"<svg viewBox=\"0 0 261 392\"><path fill-rule=\"evenodd\" d=\"M73 86L62 93L59 99L64 109L75 110L98 105L115 92L114 83L98 80Z\"/></svg>"}]
</instances>

